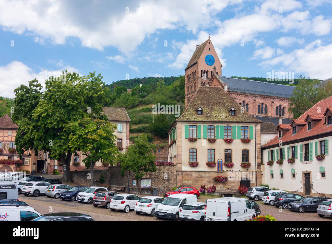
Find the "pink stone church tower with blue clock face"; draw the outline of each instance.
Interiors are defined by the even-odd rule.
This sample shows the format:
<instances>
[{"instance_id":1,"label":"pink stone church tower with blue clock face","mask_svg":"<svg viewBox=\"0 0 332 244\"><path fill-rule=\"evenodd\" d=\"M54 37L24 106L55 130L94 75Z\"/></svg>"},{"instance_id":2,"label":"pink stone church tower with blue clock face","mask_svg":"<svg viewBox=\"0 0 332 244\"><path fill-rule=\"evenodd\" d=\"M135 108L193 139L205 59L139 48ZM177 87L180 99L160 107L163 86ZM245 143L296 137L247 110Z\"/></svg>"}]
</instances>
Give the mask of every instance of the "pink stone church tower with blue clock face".
<instances>
[{"instance_id":1,"label":"pink stone church tower with blue clock face","mask_svg":"<svg viewBox=\"0 0 332 244\"><path fill-rule=\"evenodd\" d=\"M222 64L212 45L210 36L196 50L185 68L185 106L200 86L208 86L213 73L221 76Z\"/></svg>"}]
</instances>

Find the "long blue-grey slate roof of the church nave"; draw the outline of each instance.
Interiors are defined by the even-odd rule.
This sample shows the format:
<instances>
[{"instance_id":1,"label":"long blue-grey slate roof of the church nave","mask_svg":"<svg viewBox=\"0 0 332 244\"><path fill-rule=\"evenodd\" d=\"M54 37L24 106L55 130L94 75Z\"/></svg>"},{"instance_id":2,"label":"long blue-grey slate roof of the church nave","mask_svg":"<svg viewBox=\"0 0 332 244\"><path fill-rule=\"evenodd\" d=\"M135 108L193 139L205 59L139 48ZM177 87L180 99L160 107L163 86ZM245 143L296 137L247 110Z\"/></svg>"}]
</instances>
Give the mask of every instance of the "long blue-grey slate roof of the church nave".
<instances>
[{"instance_id":1,"label":"long blue-grey slate roof of the church nave","mask_svg":"<svg viewBox=\"0 0 332 244\"><path fill-rule=\"evenodd\" d=\"M228 85L229 91L244 92L250 94L285 97L289 98L293 94L295 86L274 84L269 82L245 80L227 76L219 76Z\"/></svg>"}]
</instances>

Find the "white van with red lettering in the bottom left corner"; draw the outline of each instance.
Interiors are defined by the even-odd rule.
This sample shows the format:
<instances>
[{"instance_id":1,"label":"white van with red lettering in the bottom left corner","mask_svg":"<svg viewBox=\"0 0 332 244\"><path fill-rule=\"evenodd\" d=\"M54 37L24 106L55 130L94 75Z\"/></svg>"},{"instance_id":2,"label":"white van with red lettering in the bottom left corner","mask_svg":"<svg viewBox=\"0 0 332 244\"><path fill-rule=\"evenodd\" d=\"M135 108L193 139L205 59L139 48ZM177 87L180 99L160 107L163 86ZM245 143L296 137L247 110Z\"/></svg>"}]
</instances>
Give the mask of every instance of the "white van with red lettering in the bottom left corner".
<instances>
[{"instance_id":1,"label":"white van with red lettering in the bottom left corner","mask_svg":"<svg viewBox=\"0 0 332 244\"><path fill-rule=\"evenodd\" d=\"M27 203L16 200L0 200L1 221L30 221L41 214Z\"/></svg>"}]
</instances>

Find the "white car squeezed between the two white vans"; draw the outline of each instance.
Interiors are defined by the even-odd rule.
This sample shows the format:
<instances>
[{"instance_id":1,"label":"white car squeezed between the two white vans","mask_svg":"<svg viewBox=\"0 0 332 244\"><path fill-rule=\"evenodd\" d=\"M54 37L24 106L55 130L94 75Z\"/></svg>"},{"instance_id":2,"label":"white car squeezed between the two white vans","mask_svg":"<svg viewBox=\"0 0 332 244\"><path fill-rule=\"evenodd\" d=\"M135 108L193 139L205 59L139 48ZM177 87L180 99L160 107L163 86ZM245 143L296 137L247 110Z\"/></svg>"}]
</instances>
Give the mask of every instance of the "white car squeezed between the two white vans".
<instances>
[{"instance_id":1,"label":"white car squeezed between the two white vans","mask_svg":"<svg viewBox=\"0 0 332 244\"><path fill-rule=\"evenodd\" d=\"M180 221L204 221L205 203L187 203L179 211Z\"/></svg>"}]
</instances>

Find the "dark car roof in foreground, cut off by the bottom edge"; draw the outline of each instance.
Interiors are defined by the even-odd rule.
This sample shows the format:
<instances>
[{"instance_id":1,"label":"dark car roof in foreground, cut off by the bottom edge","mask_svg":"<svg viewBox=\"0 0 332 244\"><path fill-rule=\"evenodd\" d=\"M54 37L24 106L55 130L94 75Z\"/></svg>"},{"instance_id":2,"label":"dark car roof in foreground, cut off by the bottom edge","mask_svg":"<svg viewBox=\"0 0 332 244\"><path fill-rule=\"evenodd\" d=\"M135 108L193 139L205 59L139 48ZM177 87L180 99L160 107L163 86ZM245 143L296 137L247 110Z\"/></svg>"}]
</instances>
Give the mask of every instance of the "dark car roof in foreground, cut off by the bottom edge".
<instances>
[{"instance_id":1,"label":"dark car roof in foreground, cut off by the bottom edge","mask_svg":"<svg viewBox=\"0 0 332 244\"><path fill-rule=\"evenodd\" d=\"M95 221L90 215L84 213L69 213L69 212L60 212L60 213L48 213L43 214L37 218L32 219L31 221Z\"/></svg>"}]
</instances>

